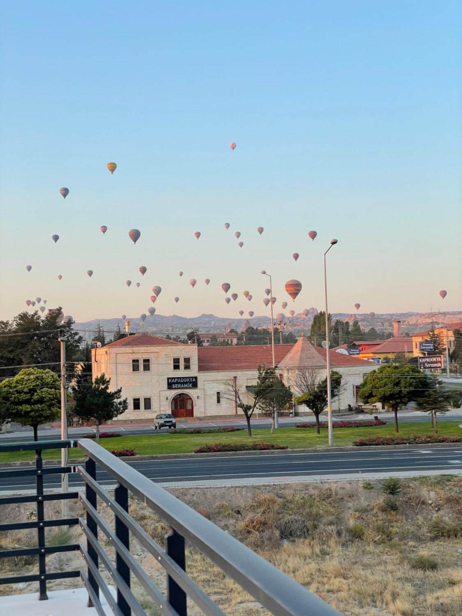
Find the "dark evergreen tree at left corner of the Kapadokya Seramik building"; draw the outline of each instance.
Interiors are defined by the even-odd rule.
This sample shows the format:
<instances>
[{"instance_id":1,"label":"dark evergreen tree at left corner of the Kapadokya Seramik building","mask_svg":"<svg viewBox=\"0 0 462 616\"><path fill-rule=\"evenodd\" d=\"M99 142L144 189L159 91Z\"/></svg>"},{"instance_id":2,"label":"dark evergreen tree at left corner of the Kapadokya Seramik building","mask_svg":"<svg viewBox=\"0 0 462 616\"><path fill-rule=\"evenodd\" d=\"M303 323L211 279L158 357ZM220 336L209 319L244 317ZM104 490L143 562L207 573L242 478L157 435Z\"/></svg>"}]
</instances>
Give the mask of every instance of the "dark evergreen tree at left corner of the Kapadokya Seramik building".
<instances>
[{"instance_id":1,"label":"dark evergreen tree at left corner of the Kapadokya Seramik building","mask_svg":"<svg viewBox=\"0 0 462 616\"><path fill-rule=\"evenodd\" d=\"M99 440L99 426L115 419L128 408L127 399L122 399L122 388L109 391L111 379L105 374L97 376L94 383L82 383L75 392L75 414L82 419L96 422L96 440Z\"/></svg>"}]
</instances>

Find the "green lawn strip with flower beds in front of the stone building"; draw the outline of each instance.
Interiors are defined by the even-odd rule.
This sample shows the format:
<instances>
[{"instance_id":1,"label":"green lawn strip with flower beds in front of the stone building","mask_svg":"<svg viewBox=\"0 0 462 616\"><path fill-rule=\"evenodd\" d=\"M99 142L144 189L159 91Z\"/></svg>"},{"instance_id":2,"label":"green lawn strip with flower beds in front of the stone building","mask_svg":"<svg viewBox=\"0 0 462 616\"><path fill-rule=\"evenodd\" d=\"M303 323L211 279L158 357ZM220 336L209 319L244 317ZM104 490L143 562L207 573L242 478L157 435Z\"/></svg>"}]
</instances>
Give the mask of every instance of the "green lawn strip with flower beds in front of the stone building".
<instances>
[{"instance_id":1,"label":"green lawn strip with flower beds in front of the stone building","mask_svg":"<svg viewBox=\"0 0 462 616\"><path fill-rule=\"evenodd\" d=\"M438 424L439 434L462 436L462 429L458 428L458 421L440 421ZM360 437L372 435L389 436L395 434L393 423L390 421L386 426L372 426L370 428L334 428L335 445L351 445ZM433 434L430 422L401 423L400 434ZM140 455L160 453L190 453L200 445L206 443L230 443L249 442L252 440L264 440L267 443L287 445L290 449L309 447L325 447L327 445L327 428L321 429L317 435L314 428L279 428L275 434L270 434L269 429L255 429L251 439L246 430L239 432L227 432L217 434L147 434L138 436L123 436L115 439L101 439L100 445L106 449L121 449L133 447ZM0 444L2 440L0 439ZM45 451L45 460L57 460L59 450ZM81 458L82 452L78 448L70 450L70 458ZM7 452L0 453L0 462L15 460L33 460L33 452Z\"/></svg>"}]
</instances>

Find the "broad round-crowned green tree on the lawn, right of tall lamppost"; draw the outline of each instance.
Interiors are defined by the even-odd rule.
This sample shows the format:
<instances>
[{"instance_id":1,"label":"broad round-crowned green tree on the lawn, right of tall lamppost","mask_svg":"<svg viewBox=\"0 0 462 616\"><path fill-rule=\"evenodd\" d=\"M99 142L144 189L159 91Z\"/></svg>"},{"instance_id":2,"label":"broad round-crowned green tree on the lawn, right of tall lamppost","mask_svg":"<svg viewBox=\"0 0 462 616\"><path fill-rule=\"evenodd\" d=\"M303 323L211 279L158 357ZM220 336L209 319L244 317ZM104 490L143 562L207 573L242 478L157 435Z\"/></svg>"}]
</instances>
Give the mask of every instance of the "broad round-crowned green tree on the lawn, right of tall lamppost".
<instances>
[{"instance_id":1,"label":"broad round-crowned green tree on the lawn, right of tall lamppost","mask_svg":"<svg viewBox=\"0 0 462 616\"><path fill-rule=\"evenodd\" d=\"M395 432L399 432L398 409L420 397L427 386L427 376L415 366L389 363L366 376L359 397L366 403L381 402L390 407L395 414Z\"/></svg>"}]
</instances>

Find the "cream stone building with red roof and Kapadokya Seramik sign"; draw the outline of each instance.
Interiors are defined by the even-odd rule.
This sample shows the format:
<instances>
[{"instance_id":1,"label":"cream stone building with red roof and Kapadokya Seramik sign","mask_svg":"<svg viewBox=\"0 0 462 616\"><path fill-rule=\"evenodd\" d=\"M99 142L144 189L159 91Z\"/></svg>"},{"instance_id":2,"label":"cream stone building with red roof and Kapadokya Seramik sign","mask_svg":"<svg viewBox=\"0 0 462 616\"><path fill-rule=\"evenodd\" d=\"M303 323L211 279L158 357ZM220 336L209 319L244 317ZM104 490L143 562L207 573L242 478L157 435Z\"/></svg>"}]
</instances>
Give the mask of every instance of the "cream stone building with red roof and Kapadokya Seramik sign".
<instances>
[{"instance_id":1,"label":"cream stone building with red roof and Kapadokya Seramik sign","mask_svg":"<svg viewBox=\"0 0 462 616\"><path fill-rule=\"evenodd\" d=\"M275 362L291 386L296 370L308 367L323 375L326 351L301 336L296 344L276 345ZM344 378L344 392L335 408L347 408L355 402L355 387L376 365L334 351L330 362ZM128 399L128 410L116 421L152 421L156 413L168 412L178 418L238 415L236 400L224 392L233 382L251 403L249 387L257 383L259 365L272 366L271 346L198 347L144 333L111 342L92 354L93 378L105 373L110 388L121 387Z\"/></svg>"}]
</instances>

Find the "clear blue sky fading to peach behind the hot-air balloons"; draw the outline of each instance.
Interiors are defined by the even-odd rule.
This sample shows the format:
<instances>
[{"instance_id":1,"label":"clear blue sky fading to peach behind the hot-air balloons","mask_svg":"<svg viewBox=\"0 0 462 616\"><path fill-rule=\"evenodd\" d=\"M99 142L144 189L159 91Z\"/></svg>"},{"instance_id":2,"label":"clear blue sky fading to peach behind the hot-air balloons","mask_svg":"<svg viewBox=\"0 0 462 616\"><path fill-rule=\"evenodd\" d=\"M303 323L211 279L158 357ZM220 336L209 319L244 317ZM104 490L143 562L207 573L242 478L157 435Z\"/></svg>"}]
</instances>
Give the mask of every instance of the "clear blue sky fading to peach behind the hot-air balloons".
<instances>
[{"instance_id":1,"label":"clear blue sky fading to peach behind the hot-air balloons","mask_svg":"<svg viewBox=\"0 0 462 616\"><path fill-rule=\"evenodd\" d=\"M0 7L0 318L462 309L457 0Z\"/></svg>"}]
</instances>

